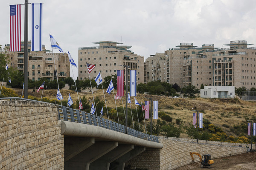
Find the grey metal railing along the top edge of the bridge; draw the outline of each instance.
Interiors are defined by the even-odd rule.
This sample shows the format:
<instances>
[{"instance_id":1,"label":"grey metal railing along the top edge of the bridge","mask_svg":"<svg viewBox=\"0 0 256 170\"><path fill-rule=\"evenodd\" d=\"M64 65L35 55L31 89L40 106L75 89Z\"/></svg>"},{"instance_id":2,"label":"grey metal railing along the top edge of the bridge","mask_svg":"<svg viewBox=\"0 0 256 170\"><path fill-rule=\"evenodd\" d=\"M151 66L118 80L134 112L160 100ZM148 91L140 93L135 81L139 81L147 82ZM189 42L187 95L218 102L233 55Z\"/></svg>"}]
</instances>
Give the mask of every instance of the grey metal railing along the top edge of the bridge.
<instances>
[{"instance_id":1,"label":"grey metal railing along the top edge of the bridge","mask_svg":"<svg viewBox=\"0 0 256 170\"><path fill-rule=\"evenodd\" d=\"M125 126L113 122L103 117L96 116L95 114L86 113L84 111L79 111L78 109L68 108L66 106L58 106L59 120L65 120L70 122L84 123L87 125L99 126L105 129L114 130L116 132L125 133ZM151 136L145 133L141 133L138 130L134 130L127 127L128 135L135 136L141 139L145 139L151 142L159 142L158 136Z\"/></svg>"}]
</instances>

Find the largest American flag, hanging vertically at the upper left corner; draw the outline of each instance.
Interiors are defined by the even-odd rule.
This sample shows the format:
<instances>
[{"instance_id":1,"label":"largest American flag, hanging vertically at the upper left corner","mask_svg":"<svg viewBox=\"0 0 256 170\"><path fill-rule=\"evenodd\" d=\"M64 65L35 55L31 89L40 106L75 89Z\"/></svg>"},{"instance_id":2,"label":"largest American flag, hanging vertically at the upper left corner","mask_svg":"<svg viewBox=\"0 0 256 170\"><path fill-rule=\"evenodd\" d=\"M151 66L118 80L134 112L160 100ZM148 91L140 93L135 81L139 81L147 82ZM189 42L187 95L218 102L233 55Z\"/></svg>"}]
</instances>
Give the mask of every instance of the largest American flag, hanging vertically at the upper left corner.
<instances>
[{"instance_id":1,"label":"largest American flag, hanging vertically at the upper left corner","mask_svg":"<svg viewBox=\"0 0 256 170\"><path fill-rule=\"evenodd\" d=\"M10 49L20 51L21 4L10 6Z\"/></svg>"}]
</instances>

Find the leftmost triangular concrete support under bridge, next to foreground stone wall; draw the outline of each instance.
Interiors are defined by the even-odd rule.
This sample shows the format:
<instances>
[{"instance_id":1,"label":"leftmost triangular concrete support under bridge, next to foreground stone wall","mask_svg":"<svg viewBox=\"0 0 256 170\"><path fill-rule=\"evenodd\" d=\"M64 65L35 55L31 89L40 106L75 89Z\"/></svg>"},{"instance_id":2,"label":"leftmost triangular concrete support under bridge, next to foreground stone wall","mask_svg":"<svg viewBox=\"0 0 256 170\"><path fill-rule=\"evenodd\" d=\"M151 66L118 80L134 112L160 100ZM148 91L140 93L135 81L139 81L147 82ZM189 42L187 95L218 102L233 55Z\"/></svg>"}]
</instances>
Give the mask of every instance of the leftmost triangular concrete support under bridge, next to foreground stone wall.
<instances>
[{"instance_id":1,"label":"leftmost triangular concrete support under bridge, next to foreground stone wall","mask_svg":"<svg viewBox=\"0 0 256 170\"><path fill-rule=\"evenodd\" d=\"M64 137L64 161L68 161L83 150L94 144L94 138L65 136Z\"/></svg>"}]
</instances>

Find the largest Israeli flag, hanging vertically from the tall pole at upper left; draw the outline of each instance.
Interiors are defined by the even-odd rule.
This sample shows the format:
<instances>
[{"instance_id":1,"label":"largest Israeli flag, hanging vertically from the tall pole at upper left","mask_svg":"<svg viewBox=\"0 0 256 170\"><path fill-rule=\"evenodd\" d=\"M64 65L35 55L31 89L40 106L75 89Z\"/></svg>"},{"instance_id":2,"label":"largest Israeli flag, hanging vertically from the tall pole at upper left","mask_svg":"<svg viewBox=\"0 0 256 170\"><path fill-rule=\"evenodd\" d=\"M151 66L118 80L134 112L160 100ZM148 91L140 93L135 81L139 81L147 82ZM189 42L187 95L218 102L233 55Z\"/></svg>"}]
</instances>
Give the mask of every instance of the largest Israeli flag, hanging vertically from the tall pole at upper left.
<instances>
[{"instance_id":1,"label":"largest Israeli flag, hanging vertically from the tall pole at upper left","mask_svg":"<svg viewBox=\"0 0 256 170\"><path fill-rule=\"evenodd\" d=\"M42 51L42 3L32 3L31 51Z\"/></svg>"}]
</instances>

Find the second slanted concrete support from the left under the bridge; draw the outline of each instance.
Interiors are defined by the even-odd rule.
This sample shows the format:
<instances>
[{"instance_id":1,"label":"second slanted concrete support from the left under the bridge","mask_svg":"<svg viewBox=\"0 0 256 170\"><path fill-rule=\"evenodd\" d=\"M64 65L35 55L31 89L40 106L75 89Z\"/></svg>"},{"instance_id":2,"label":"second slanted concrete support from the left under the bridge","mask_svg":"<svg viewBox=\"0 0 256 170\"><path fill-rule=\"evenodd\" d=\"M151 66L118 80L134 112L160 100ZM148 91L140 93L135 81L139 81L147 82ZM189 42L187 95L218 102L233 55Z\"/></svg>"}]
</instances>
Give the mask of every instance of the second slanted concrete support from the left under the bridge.
<instances>
[{"instance_id":1,"label":"second slanted concrete support from the left under the bridge","mask_svg":"<svg viewBox=\"0 0 256 170\"><path fill-rule=\"evenodd\" d=\"M77 154L73 158L65 161L65 170L89 170L90 163L99 159L106 153L118 146L118 142L102 142L95 141L95 144L88 147L86 150ZM90 168L91 170L92 168ZM93 170L93 169L92 169Z\"/></svg>"}]
</instances>

